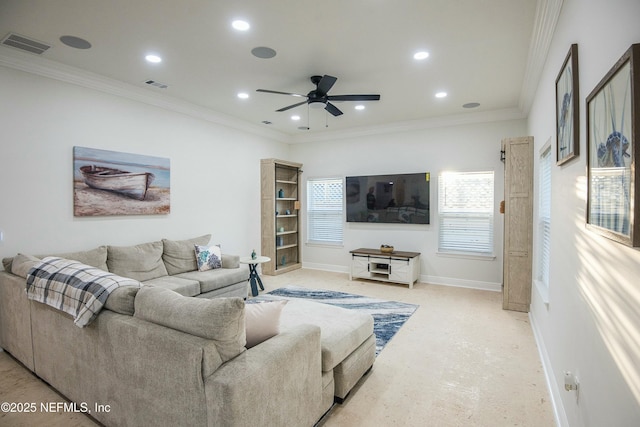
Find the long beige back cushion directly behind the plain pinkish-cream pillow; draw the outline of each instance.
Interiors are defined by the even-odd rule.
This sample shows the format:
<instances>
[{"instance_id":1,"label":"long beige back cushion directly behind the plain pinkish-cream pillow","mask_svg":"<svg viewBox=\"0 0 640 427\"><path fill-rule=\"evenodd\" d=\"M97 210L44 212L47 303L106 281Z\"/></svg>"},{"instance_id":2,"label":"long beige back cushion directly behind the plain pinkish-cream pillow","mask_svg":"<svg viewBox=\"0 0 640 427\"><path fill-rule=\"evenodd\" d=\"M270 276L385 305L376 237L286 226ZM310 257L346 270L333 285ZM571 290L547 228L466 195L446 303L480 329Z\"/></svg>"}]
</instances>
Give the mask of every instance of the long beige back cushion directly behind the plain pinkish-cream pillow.
<instances>
[{"instance_id":1,"label":"long beige back cushion directly behind the plain pinkish-cream pillow","mask_svg":"<svg viewBox=\"0 0 640 427\"><path fill-rule=\"evenodd\" d=\"M134 317L213 340L223 362L245 351L242 298L191 298L143 286L136 295Z\"/></svg>"}]
</instances>

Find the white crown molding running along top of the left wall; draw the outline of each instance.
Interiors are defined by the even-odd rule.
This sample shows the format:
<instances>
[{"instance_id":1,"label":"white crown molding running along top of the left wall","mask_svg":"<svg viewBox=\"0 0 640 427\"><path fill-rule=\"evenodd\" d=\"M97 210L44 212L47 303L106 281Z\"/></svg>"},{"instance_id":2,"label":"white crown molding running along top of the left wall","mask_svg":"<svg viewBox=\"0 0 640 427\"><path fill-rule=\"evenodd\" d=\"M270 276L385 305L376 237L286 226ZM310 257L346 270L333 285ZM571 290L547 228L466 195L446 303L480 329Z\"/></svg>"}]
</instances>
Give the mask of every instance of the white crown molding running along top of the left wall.
<instances>
[{"instance_id":1,"label":"white crown molding running along top of the left wall","mask_svg":"<svg viewBox=\"0 0 640 427\"><path fill-rule=\"evenodd\" d=\"M99 74L70 67L46 58L14 51L0 46L0 65L38 76L59 80L65 83L97 90L137 102L159 107L165 110L185 114L217 125L249 132L278 142L290 142L290 136L282 132L266 129L262 126L236 119L211 109L200 107L165 94L157 94L146 88L110 79Z\"/></svg>"}]
</instances>

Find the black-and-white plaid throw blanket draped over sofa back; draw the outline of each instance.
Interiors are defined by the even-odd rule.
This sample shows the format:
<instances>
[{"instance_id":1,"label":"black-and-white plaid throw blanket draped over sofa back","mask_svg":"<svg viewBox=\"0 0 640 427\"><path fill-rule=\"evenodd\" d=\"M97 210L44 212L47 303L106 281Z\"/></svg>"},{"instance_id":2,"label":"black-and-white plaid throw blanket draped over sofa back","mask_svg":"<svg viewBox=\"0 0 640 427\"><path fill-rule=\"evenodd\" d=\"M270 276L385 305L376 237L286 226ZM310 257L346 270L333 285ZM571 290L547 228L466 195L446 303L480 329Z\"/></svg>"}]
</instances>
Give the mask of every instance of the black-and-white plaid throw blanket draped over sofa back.
<instances>
[{"instance_id":1,"label":"black-and-white plaid throw blanket draped over sofa back","mask_svg":"<svg viewBox=\"0 0 640 427\"><path fill-rule=\"evenodd\" d=\"M44 258L27 274L27 297L72 315L81 328L96 318L109 294L120 286L141 283L57 257Z\"/></svg>"}]
</instances>

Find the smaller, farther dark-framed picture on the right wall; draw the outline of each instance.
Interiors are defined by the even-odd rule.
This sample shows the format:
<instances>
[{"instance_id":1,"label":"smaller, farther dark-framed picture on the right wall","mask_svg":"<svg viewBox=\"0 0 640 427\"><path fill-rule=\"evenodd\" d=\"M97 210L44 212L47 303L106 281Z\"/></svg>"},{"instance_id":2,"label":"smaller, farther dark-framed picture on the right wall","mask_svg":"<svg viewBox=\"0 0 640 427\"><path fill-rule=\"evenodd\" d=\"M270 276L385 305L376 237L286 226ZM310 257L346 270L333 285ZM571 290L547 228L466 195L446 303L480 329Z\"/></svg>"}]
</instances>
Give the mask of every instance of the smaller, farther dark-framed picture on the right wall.
<instances>
[{"instance_id":1,"label":"smaller, farther dark-framed picture on the right wall","mask_svg":"<svg viewBox=\"0 0 640 427\"><path fill-rule=\"evenodd\" d=\"M578 45L572 44L556 78L556 164L578 157L580 108Z\"/></svg>"}]
</instances>

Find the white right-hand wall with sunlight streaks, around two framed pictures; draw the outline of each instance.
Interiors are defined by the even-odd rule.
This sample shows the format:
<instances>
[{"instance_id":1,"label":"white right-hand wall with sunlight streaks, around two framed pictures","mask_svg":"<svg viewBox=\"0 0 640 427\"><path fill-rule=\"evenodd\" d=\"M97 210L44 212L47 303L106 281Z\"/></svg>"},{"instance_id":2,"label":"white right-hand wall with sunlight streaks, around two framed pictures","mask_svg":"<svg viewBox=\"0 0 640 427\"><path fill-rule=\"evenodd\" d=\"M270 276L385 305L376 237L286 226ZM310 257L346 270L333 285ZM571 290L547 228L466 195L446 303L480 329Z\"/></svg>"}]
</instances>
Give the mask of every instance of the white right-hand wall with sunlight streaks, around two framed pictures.
<instances>
[{"instance_id":1,"label":"white right-hand wall with sunlight streaks, around two framed pictures","mask_svg":"<svg viewBox=\"0 0 640 427\"><path fill-rule=\"evenodd\" d=\"M555 153L555 79L578 43L580 156L552 167L549 304L534 290L531 305L563 426L640 425L640 251L585 229L585 99L640 42L639 18L638 0L565 0L528 121L536 153L549 138ZM579 395L564 391L565 370Z\"/></svg>"}]
</instances>

